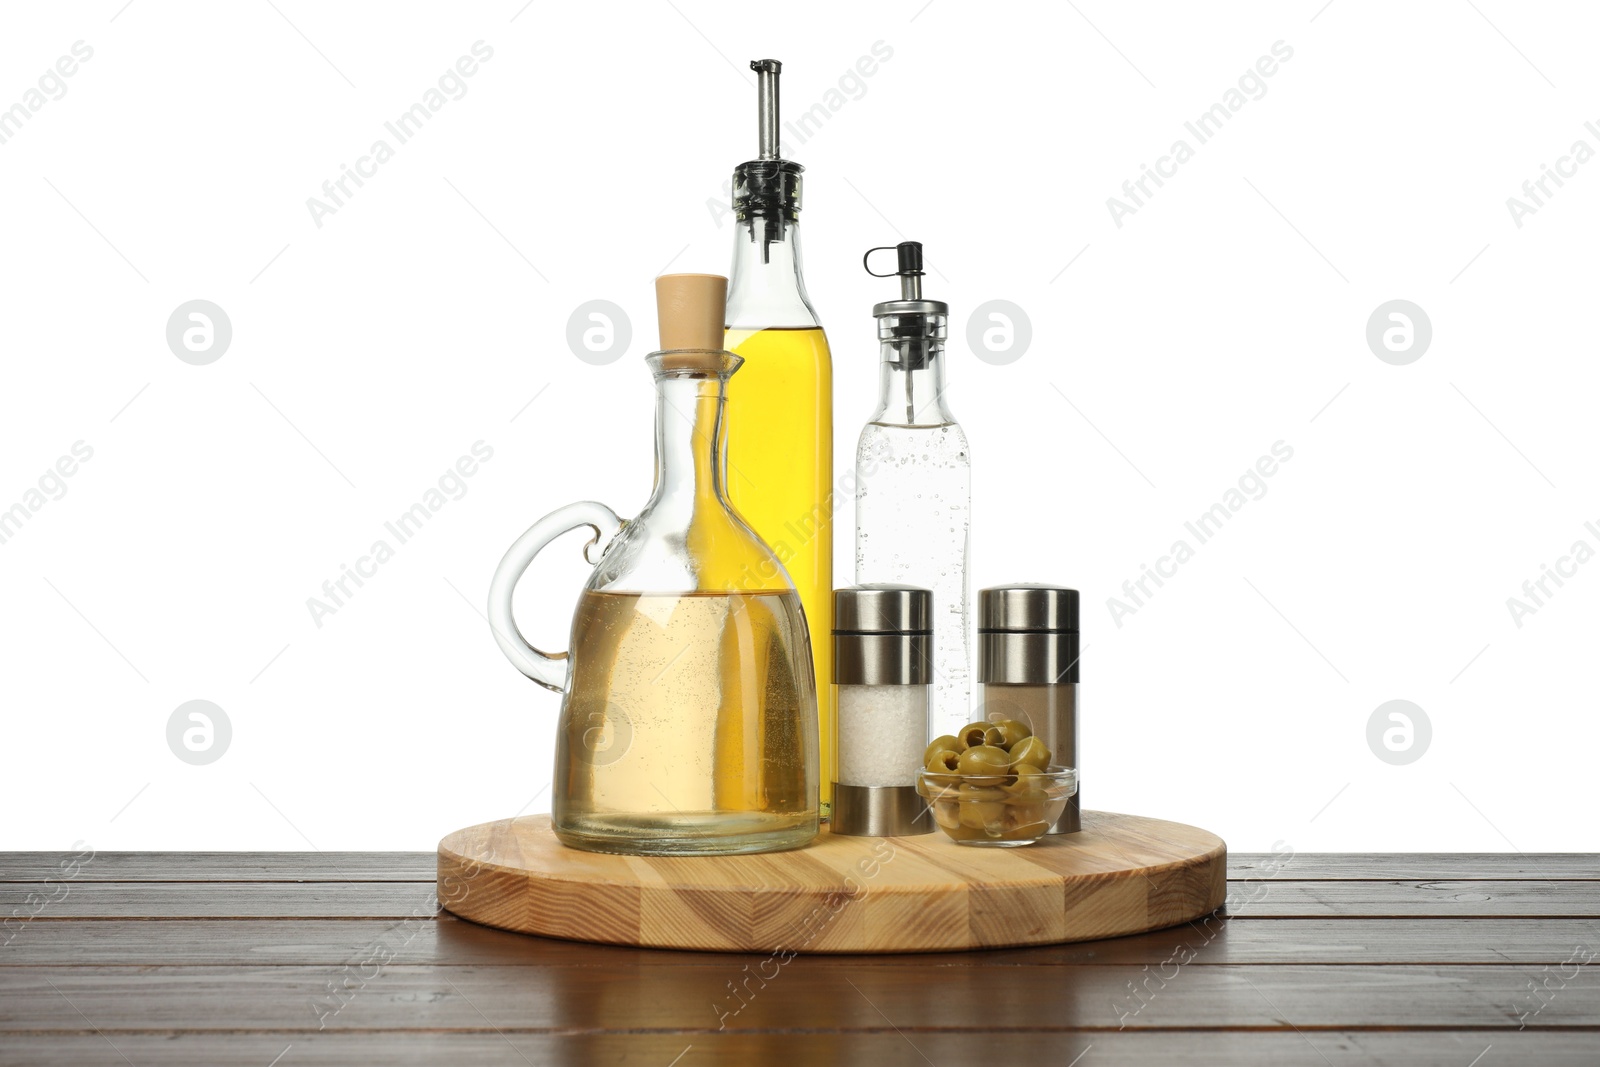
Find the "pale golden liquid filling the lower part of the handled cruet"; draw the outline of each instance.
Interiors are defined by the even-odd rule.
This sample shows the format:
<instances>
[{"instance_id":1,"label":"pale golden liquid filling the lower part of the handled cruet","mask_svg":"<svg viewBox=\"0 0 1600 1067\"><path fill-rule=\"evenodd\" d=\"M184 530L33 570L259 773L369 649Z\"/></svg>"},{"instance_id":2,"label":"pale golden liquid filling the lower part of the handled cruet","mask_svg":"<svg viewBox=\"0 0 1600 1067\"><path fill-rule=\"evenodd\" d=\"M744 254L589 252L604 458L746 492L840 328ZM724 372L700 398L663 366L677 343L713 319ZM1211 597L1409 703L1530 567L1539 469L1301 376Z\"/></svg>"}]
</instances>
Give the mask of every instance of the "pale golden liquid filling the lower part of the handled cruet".
<instances>
[{"instance_id":1,"label":"pale golden liquid filling the lower part of the handled cruet","mask_svg":"<svg viewBox=\"0 0 1600 1067\"><path fill-rule=\"evenodd\" d=\"M584 592L571 648L555 758L565 843L690 854L816 835L811 678L792 669L810 649L794 593Z\"/></svg>"}]
</instances>

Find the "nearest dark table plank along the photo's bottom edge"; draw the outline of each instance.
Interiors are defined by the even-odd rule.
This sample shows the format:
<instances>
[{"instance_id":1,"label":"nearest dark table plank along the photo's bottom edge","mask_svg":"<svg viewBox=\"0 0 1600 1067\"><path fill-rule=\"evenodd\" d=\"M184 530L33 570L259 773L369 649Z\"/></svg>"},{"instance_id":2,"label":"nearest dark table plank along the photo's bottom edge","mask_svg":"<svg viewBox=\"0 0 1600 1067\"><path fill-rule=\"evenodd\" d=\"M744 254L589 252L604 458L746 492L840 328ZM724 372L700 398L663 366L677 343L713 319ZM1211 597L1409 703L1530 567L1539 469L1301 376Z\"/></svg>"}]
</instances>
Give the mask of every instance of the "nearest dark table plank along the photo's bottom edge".
<instances>
[{"instance_id":1,"label":"nearest dark table plank along the photo's bottom edge","mask_svg":"<svg viewBox=\"0 0 1600 1067\"><path fill-rule=\"evenodd\" d=\"M158 1064L162 1067L1595 1067L1595 1035L1483 1030L1125 1030L939 1032L883 1029L859 1033L470 1033L304 1032L253 1033L19 1033L0 1043L0 1067ZM280 1059L282 1057L282 1059ZM1475 1057L1478 1059L1474 1064Z\"/></svg>"}]
</instances>

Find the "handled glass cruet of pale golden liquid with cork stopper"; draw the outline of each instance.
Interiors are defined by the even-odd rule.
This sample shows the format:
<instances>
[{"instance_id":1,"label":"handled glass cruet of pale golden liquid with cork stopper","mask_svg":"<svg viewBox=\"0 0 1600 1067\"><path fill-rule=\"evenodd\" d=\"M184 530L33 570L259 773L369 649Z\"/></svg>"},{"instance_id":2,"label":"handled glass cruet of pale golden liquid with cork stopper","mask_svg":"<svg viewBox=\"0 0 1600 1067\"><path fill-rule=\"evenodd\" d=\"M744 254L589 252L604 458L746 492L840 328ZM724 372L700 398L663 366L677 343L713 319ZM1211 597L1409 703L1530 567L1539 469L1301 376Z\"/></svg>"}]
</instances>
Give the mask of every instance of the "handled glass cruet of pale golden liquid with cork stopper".
<instances>
[{"instance_id":1,"label":"handled glass cruet of pale golden liquid with cork stopper","mask_svg":"<svg viewBox=\"0 0 1600 1067\"><path fill-rule=\"evenodd\" d=\"M573 848L730 854L798 848L818 833L818 702L795 587L728 502L723 390L726 280L656 278L661 350L656 480L622 522L570 504L506 553L490 625L525 675L562 694L550 816ZM595 569L570 651L528 643L512 589L555 537L587 526ZM826 635L824 635L826 640Z\"/></svg>"}]
</instances>

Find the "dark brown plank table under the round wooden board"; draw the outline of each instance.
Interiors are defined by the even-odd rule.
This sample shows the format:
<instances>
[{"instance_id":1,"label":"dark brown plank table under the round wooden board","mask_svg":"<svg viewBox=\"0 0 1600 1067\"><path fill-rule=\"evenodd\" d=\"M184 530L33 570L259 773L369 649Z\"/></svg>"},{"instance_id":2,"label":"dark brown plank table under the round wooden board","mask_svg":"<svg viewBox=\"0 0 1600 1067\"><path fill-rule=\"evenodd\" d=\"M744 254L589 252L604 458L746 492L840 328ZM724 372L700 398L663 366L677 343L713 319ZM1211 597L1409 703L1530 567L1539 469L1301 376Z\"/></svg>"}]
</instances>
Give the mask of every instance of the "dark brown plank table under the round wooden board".
<instances>
[{"instance_id":1,"label":"dark brown plank table under the round wooden board","mask_svg":"<svg viewBox=\"0 0 1600 1067\"><path fill-rule=\"evenodd\" d=\"M434 853L69 861L0 854L0 1064L1600 1064L1600 856L1240 854L1178 929L789 960L474 926Z\"/></svg>"}]
</instances>

